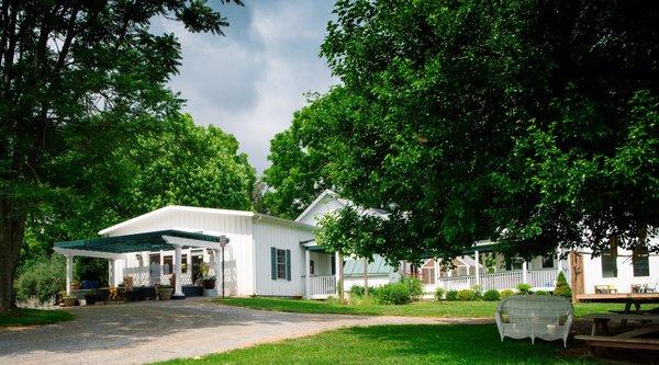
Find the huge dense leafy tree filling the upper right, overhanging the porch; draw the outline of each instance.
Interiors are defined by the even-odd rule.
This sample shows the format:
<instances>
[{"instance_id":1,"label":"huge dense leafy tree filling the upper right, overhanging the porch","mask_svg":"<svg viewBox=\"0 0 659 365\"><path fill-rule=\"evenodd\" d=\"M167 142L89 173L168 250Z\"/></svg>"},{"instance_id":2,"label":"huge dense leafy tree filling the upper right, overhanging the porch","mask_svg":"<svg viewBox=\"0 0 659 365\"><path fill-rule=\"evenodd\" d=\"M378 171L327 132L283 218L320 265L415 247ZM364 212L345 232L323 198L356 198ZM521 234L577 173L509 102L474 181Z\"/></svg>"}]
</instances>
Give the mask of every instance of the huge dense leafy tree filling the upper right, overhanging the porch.
<instances>
[{"instance_id":1,"label":"huge dense leafy tree filling the upper right, overhanging the porch","mask_svg":"<svg viewBox=\"0 0 659 365\"><path fill-rule=\"evenodd\" d=\"M316 179L391 214L336 214L323 243L393 260L479 239L524 256L659 250L658 4L339 0L335 13L322 54L342 85L321 102L339 117L308 125L319 138L300 150L330 151Z\"/></svg>"}]
</instances>

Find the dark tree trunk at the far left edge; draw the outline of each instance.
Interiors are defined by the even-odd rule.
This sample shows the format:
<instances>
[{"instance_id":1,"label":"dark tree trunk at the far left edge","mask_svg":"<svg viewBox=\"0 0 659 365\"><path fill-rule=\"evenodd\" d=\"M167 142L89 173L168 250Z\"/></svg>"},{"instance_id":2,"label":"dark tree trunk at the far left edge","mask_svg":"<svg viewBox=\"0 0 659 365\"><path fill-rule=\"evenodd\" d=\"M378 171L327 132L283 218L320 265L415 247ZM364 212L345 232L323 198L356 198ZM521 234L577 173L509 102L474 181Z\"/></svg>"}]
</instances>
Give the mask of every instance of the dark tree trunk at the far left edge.
<instances>
[{"instance_id":1,"label":"dark tree trunk at the far left edge","mask_svg":"<svg viewBox=\"0 0 659 365\"><path fill-rule=\"evenodd\" d=\"M0 312L14 305L13 278L25 233L25 213L9 197L0 198Z\"/></svg>"}]
</instances>

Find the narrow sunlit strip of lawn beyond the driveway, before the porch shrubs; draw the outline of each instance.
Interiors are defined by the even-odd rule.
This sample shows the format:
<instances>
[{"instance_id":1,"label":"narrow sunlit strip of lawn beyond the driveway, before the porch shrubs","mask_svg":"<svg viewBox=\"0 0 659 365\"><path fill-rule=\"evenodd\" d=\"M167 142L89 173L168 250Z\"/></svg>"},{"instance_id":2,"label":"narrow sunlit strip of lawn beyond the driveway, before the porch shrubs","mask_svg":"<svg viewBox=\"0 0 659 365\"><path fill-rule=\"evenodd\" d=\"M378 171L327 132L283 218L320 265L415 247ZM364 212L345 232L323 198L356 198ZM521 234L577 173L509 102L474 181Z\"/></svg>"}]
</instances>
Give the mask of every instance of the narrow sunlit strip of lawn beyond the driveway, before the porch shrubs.
<instances>
[{"instance_id":1,"label":"narrow sunlit strip of lawn beyond the driveway, before the porch shrubs","mask_svg":"<svg viewBox=\"0 0 659 365\"><path fill-rule=\"evenodd\" d=\"M340 305L336 301L283 298L225 298L216 299L215 301L230 306L303 313L409 317L493 317L498 305L496 301L417 301L402 306L376 304ZM624 305L591 303L578 303L574 305L574 311L578 317L605 312L610 309L624 309Z\"/></svg>"}]
</instances>

